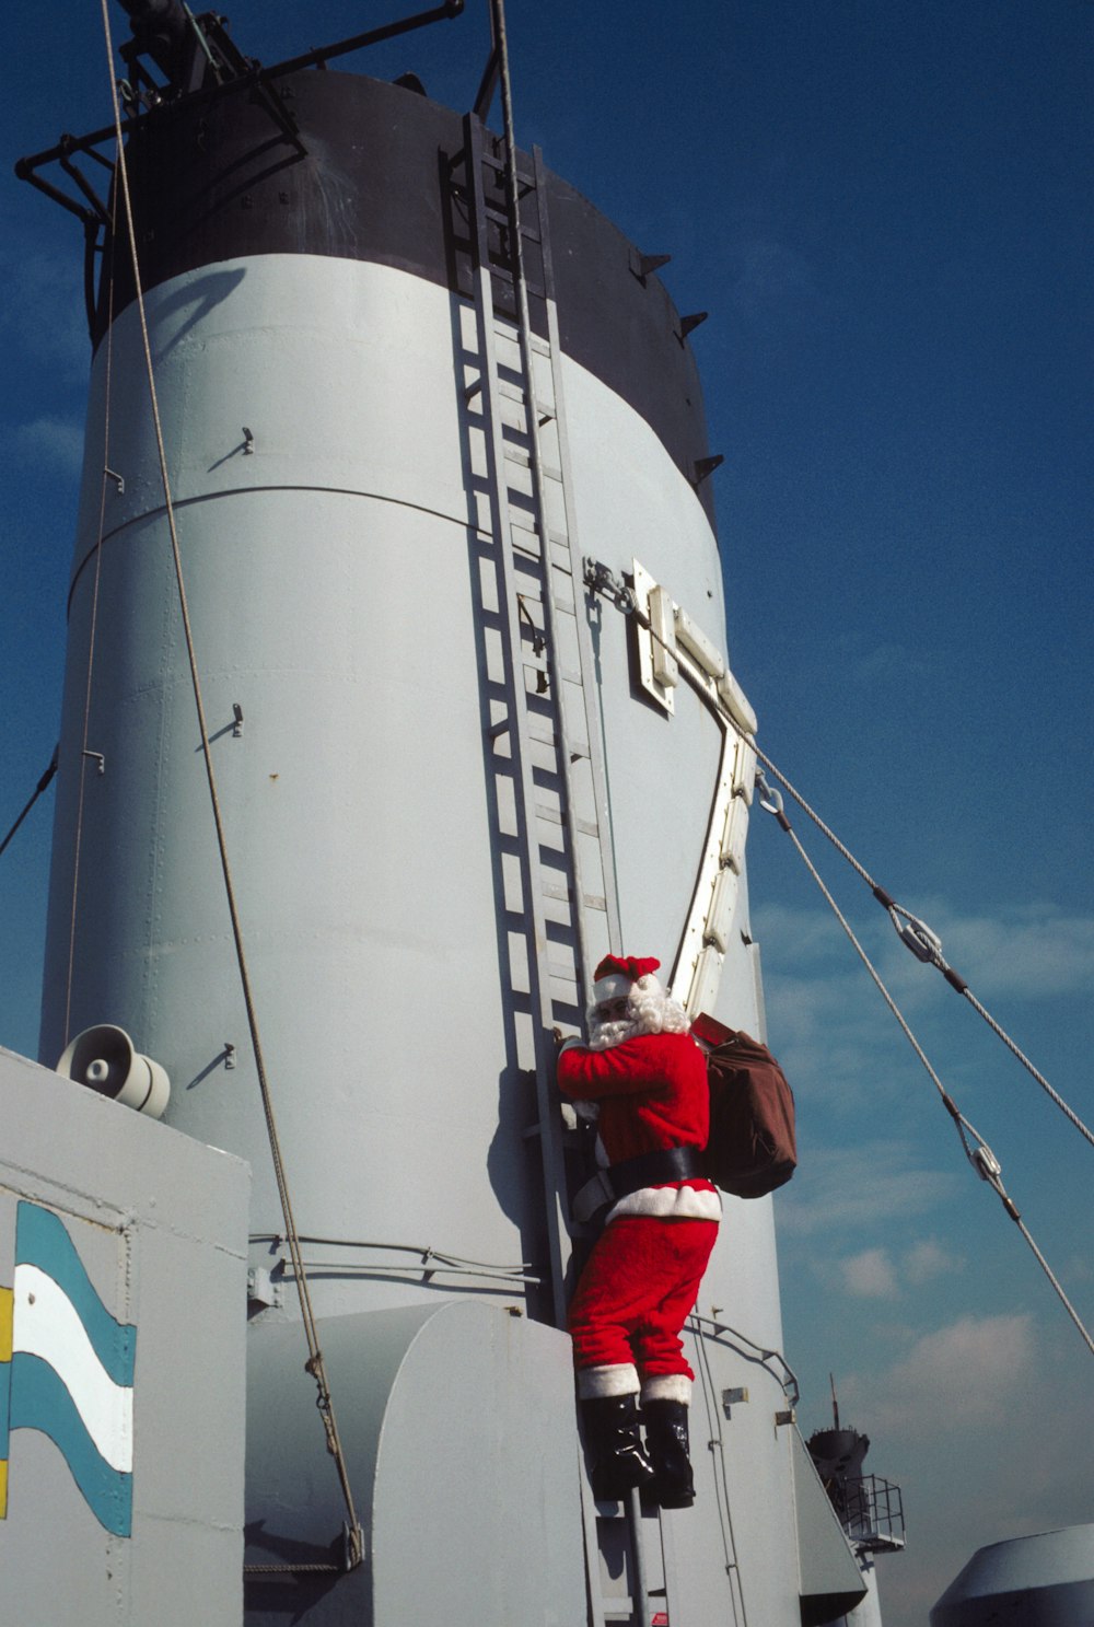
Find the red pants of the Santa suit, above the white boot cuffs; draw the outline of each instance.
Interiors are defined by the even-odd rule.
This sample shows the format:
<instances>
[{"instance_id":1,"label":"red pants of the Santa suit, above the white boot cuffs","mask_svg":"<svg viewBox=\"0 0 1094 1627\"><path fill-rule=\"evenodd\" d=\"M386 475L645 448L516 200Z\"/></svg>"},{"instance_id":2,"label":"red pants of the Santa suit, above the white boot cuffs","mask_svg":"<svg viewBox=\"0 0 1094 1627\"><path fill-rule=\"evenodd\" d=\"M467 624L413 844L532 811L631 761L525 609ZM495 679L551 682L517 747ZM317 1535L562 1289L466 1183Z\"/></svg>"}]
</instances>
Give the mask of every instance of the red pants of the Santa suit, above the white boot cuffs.
<instances>
[{"instance_id":1,"label":"red pants of the Santa suit, above the white boot cuffs","mask_svg":"<svg viewBox=\"0 0 1094 1627\"><path fill-rule=\"evenodd\" d=\"M596 1240L570 1302L573 1365L580 1370L633 1362L640 1378L694 1378L679 1334L716 1237L716 1220L612 1220Z\"/></svg>"}]
</instances>

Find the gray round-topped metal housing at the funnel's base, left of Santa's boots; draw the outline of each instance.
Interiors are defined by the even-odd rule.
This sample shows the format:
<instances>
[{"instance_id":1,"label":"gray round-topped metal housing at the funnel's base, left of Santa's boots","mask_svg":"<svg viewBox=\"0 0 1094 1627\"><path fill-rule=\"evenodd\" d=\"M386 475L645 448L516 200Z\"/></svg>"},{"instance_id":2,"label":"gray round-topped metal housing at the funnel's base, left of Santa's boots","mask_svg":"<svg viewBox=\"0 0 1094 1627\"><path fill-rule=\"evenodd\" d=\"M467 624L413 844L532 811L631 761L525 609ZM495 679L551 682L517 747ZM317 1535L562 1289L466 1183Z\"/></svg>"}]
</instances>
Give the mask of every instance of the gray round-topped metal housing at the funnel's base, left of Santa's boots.
<instances>
[{"instance_id":1,"label":"gray round-topped metal housing at the funnel's base, left of Santa's boots","mask_svg":"<svg viewBox=\"0 0 1094 1627\"><path fill-rule=\"evenodd\" d=\"M519 1310L474 1300L327 1319L366 1562L337 1583L249 1573L249 1617L583 1620L568 1346ZM340 1551L342 1510L300 1352L295 1323L252 1329L247 1479L277 1485L278 1498L247 1533L247 1564L322 1562Z\"/></svg>"}]
</instances>

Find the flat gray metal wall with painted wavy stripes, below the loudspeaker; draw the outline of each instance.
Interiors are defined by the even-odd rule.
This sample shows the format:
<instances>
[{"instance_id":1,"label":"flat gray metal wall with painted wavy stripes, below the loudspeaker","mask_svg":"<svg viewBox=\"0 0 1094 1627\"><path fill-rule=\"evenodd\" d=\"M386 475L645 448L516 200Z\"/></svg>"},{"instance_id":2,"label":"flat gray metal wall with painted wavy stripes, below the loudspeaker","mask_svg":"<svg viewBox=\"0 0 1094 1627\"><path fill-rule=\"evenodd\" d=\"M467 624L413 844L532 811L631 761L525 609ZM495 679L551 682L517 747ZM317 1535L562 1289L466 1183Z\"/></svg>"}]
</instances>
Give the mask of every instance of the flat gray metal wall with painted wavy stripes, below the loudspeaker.
<instances>
[{"instance_id":1,"label":"flat gray metal wall with painted wavy stripes, below the loudspeaker","mask_svg":"<svg viewBox=\"0 0 1094 1627\"><path fill-rule=\"evenodd\" d=\"M39 1354L18 1368L20 1319L36 1306L16 1295L16 1357L11 1367L0 1360L0 1386L11 1396L0 1398L0 1417L8 1399L16 1417L20 1388L54 1388L26 1398L24 1406L37 1406L37 1427L0 1440L0 1458L10 1455L0 1520L5 1620L238 1627L247 1170L2 1049L0 1116L0 1290L13 1284L20 1212L57 1217L103 1316L135 1339L127 1536L107 1529L81 1494L72 1464L90 1456L83 1424L46 1373L60 1372L80 1419L93 1419L109 1386L99 1376L96 1388L86 1334L62 1324L47 1328L49 1337L23 1337ZM39 1308L44 1287L37 1279L31 1289ZM86 1297L77 1303L90 1321Z\"/></svg>"}]
</instances>

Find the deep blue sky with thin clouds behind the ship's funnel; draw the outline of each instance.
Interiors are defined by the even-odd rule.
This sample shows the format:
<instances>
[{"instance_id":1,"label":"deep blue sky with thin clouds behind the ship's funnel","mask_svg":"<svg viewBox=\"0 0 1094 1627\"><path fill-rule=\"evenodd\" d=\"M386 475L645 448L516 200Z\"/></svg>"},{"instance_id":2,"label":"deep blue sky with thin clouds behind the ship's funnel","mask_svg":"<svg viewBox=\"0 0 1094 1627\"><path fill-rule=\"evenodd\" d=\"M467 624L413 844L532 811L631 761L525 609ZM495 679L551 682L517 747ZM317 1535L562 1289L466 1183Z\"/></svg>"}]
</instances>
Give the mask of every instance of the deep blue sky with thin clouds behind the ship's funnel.
<instances>
[{"instance_id":1,"label":"deep blue sky with thin clouds behind the ship's funnel","mask_svg":"<svg viewBox=\"0 0 1094 1627\"><path fill-rule=\"evenodd\" d=\"M265 60L389 15L231 8ZM523 143L710 311L729 654L764 748L1089 1123L1094 7L510 0L510 31ZM7 37L8 161L107 122L98 0L18 7ZM484 52L469 0L355 65L466 106ZM8 161L5 830L55 740L88 360L78 225ZM0 859L0 1041L29 1053L50 812ZM794 827L1092 1323L1094 1149ZM773 820L749 864L801 1114L778 1204L801 1424L835 1373L905 1492L886 1624L921 1627L980 1544L1094 1518L1094 1368Z\"/></svg>"}]
</instances>

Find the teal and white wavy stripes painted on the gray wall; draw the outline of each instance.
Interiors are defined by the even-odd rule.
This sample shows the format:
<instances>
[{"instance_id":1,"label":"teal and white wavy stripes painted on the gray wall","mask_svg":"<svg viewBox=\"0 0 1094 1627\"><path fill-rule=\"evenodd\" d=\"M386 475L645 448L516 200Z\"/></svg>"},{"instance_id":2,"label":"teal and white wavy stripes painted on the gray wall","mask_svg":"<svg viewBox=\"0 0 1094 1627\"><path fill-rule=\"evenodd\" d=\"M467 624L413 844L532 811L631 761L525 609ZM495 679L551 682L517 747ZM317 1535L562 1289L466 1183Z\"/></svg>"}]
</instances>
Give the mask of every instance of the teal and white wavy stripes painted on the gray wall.
<instances>
[{"instance_id":1,"label":"teal and white wavy stripes painted on the gray wall","mask_svg":"<svg viewBox=\"0 0 1094 1627\"><path fill-rule=\"evenodd\" d=\"M137 1329L106 1310L63 1222L28 1202L16 1215L10 1352L0 1456L8 1429L49 1435L99 1523L129 1536Z\"/></svg>"}]
</instances>

